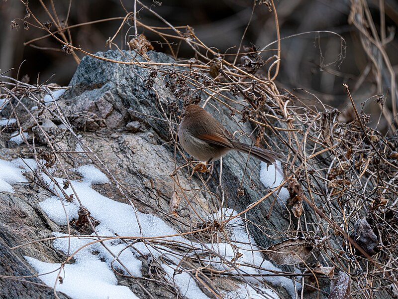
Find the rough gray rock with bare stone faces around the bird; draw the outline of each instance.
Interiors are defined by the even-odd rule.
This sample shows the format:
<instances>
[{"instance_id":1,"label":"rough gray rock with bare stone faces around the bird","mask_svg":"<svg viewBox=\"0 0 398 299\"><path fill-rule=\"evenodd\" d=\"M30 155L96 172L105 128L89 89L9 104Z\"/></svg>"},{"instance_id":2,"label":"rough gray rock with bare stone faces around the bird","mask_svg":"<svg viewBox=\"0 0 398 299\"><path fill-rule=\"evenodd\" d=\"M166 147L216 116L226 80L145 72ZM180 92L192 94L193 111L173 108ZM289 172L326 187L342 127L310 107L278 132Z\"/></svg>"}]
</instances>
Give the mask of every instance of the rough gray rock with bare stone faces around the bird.
<instances>
[{"instance_id":1,"label":"rough gray rock with bare stone faces around the bird","mask_svg":"<svg viewBox=\"0 0 398 299\"><path fill-rule=\"evenodd\" d=\"M107 51L97 53L97 55L123 62L129 62L132 57L127 51L123 53ZM237 211L244 210L251 203L262 198L267 192L259 180L259 162L252 158L247 160L247 156L239 152L230 152L223 158L221 185L218 181L219 161L214 163L211 175L196 173L190 178L192 170L189 169L191 168L184 167L176 170L176 167L185 163L180 152L175 150L173 138L176 136L179 110L187 97L184 86L174 84L170 88L168 82L171 82L173 78L170 78L170 72L168 75L162 72L170 69L179 71L178 67L173 66L175 61L156 52L150 52L149 57L151 62L170 64L151 66L152 69L158 70L158 74L152 77L153 82L150 84L152 87L148 87L146 82L151 72L149 68L140 67L137 63L117 64L86 56L71 80L72 87L65 92L61 100L52 105L59 106L76 134L80 134L80 140L100 157L103 164L101 165L99 161L96 163L103 172L106 173L108 169L117 181L126 187L124 192L133 200L138 210L163 218L179 231L190 231L203 224L203 219L207 220L210 213L216 212L220 198L224 198L227 206ZM146 62L140 57L136 57L134 61ZM179 90L173 90L173 88ZM178 93L181 94L181 99L177 100L175 96ZM203 94L200 96L207 97ZM251 132L249 123L238 123L239 120L230 117L228 109L219 108L220 105L218 105L216 107L219 110L216 110L210 106L211 104L213 102L210 101L206 109L222 121L230 132L239 130ZM53 109L52 111L56 111L54 107L49 106ZM40 110L34 110L33 115L37 117ZM37 148L41 150L42 155L49 150L46 136L50 136L56 150L60 151L59 156L66 169L92 163L91 158L96 160L94 154L73 153L80 146L70 131L64 128L52 128L53 126L40 128L26 116L26 112L20 107L17 113L24 116L21 118L22 126L30 128L34 133L38 142ZM60 125L60 116L49 111L45 113L48 115L43 115L43 117L51 117L55 125ZM166 119L171 121L167 122ZM247 139L246 142L250 143L250 140ZM270 142L272 144L272 141ZM3 142L0 144L4 145ZM1 149L0 158L12 159L18 157L21 152L26 154L29 150L31 149L28 149L26 145L14 149ZM51 153L49 156L51 157ZM54 175L63 176L59 164L56 163L54 167L57 169ZM323 165L320 163L319 167ZM74 174L71 173L71 175L73 178ZM199 192L200 188L207 188L209 192ZM5 259L0 259L0 275L29 276L35 273L24 262L24 255L49 262L60 262L63 255L54 250L51 242L38 242L13 251L9 248L48 237L53 231L65 232L66 228L53 223L40 210L39 202L51 196L46 188L36 184L27 184L16 186L15 189L15 194L1 193L0 196L0 254L5 257ZM110 184L98 185L96 189L113 200L127 203L114 181ZM182 189L184 189L185 197ZM177 209L177 216L171 214L169 207L174 192L184 198ZM314 200L318 206L322 205L317 195L314 195ZM284 232L289 233L292 230L290 227L292 223L297 225L297 220L291 215L290 208L279 200L272 207L272 201L273 197L269 197L244 215L248 219L250 234L263 248L277 243L278 240L286 239ZM271 207L272 213L267 219L265 215ZM304 205L304 213L307 223L318 222L313 210L306 205ZM72 234L80 233L82 232L79 228L72 225ZM201 236L194 237L200 239ZM341 240L336 237L330 244L339 249L340 242ZM143 267L148 268L145 263ZM281 268L285 271L294 271L293 268L287 266ZM2 284L0 296L4 298L52 298L53 296L51 290L37 285L41 284L37 278L27 279L37 283L35 285L26 282L15 283L3 277L0 277L0 280ZM119 284L129 286L140 298L150 298L148 292L155 298L175 297L170 289L153 281L135 281L120 276L118 280ZM145 292L142 287L137 287L137 282L144 285L148 292ZM232 278L216 278L213 284L216 288L229 290L233 289L236 282ZM276 289L281 298L289 298L286 290ZM325 291L327 292L327 288ZM161 295L158 296L158 294ZM206 294L210 296L210 293ZM313 298L318 295L317 292L304 294L304 298ZM326 298L325 294L320 293L319 298ZM388 298L377 294L375 296Z\"/></svg>"}]
</instances>

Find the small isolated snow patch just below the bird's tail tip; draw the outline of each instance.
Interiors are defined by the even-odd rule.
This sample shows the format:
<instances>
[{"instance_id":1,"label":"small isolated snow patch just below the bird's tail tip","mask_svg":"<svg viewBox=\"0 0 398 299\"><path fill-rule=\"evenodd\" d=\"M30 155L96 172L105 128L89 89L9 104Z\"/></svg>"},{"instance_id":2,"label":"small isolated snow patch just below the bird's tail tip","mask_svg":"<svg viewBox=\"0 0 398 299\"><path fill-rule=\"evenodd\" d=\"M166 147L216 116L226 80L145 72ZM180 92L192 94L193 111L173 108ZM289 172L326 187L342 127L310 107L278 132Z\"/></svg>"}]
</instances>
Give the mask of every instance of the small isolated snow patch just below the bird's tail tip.
<instances>
[{"instance_id":1,"label":"small isolated snow patch just below the bird's tail tip","mask_svg":"<svg viewBox=\"0 0 398 299\"><path fill-rule=\"evenodd\" d=\"M279 186L285 177L283 174L281 161L276 161L274 164L267 166L266 163L261 162L260 180L265 187L275 188ZM275 193L278 193L275 192ZM280 188L278 197L286 204L289 198L289 191L286 187Z\"/></svg>"}]
</instances>

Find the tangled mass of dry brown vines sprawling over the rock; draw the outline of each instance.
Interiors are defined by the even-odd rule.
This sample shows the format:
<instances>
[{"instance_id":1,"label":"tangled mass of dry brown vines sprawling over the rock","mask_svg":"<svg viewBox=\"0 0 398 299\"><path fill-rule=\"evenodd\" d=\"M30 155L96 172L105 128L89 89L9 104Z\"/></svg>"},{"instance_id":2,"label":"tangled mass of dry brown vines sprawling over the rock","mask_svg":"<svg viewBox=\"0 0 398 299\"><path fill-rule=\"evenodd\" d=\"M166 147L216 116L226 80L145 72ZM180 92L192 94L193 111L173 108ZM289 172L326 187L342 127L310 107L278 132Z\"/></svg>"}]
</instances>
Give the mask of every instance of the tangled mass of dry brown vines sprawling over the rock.
<instances>
[{"instance_id":1,"label":"tangled mass of dry brown vines sprawling over the rock","mask_svg":"<svg viewBox=\"0 0 398 299\"><path fill-rule=\"evenodd\" d=\"M83 47L74 45L70 30L76 26L84 26L86 23L73 26L68 26L67 22L61 23L53 2L50 1L50 8L40 2L51 18L51 24L55 24L56 30L51 31L49 22L36 18L28 2L24 3L27 14L20 19L25 29L32 30L34 27L45 31L46 35L42 38L55 38L63 50L73 55L78 62L80 58L76 53L81 52L95 59L126 65L131 67L131 70L134 67L146 71L142 82L146 89L156 95L157 102L152 104L157 107L158 114L143 115L142 112L130 112L149 119L157 119L165 124L169 137L169 140L165 141L168 143L165 147L174 149L175 166L173 171L167 174L170 175L168 179L174 182L175 189L170 199L168 215L159 207L148 206L146 200L136 196L129 186L123 184L112 171L112 167L81 138L80 134L83 132L103 130L106 121L98 115L66 115L65 107L60 105L57 99L50 104L44 103L45 95L61 87L46 83L30 85L1 74L0 98L4 99L3 113L8 113L9 119L16 120L15 123L5 123L1 134L12 138L16 130L17 135L23 138L23 155L32 157L38 165L30 177L32 184L58 196L62 205L77 201L80 207L79 218L76 221L70 219L67 221L66 236L37 239L11 249L16 250L34 243L62 238L90 238L91 242L73 252L68 251L57 277L62 277L65 265L73 261L79 252L98 243L113 256L112 270L120 277L133 280L147 298L154 297L146 289L146 283L159 284L172 294L181 296L173 280L165 277L162 264L174 265L179 271L191 274L201 289L215 298L223 297L220 286L217 285L217 279L222 277L233 277L251 286L264 298L270 298L258 288L256 283L262 284L266 277L273 276L288 277L293 281L297 279L302 286L297 298L303 298L304 292L307 291L315 291L318 297L329 296L329 298L352 296L371 299L375 298L375 294L397 295L398 136L395 131L397 108L395 77L392 70L391 80L394 82L391 91L394 95L391 97L392 109L390 111L387 103L390 98L382 94L368 99L375 101L380 107L377 125L371 128L368 126L371 116L356 108L354 103L356 99L352 98L350 87L347 85L342 88L345 88L351 103L348 113L341 113L323 104L322 99L309 92L306 92L307 98L303 99L293 92L278 88L275 78L281 62L280 39L277 41L277 49L272 52L275 55L270 55L268 59L264 58L264 53L271 50L267 48L257 50L251 46L239 49L231 61L229 55L219 53L201 42L190 26L174 27L152 7L136 0L134 1L136 10L126 11L123 17L112 18L112 20L120 19L121 23L119 30L106 41L106 44L109 48L116 48L116 51L125 58L114 60L105 55L89 53ZM273 1L259 2L261 3L258 5L269 5L278 23ZM138 20L137 13L144 9L158 17L166 27L153 27L145 24L144 20ZM353 5L352 15L363 17L366 15L364 11L367 11L365 4ZM352 20L356 21L355 26L362 26L358 18L352 16ZM11 23L14 28L17 28L17 21L16 19ZM135 30L131 37L127 34L125 36L128 51L122 51L114 42L124 27ZM144 35L138 34L137 28L157 33L175 58L177 52L173 45L186 43L192 49L192 58L176 59L168 63L152 61L150 50L153 47ZM371 39L366 34L362 38ZM25 44L38 40L40 38ZM345 41L341 38L339 58L344 57L345 46ZM387 56L383 57L388 60ZM336 60L336 63L340 63L340 60ZM140 76L138 73L136 75ZM158 82L164 82L168 94L167 100L164 96L165 91L158 89ZM212 172L207 171L206 167L198 168L192 158L181 149L177 140L182 108L193 103L202 107L211 107L214 115L218 117L233 118L237 128L233 134L237 139L251 140L256 146L269 147L283 153L285 156L282 161L283 181L263 190L264 188L258 186L256 180L252 179L258 170L258 165L251 167L246 164L242 170L242 181L232 196L232 193L226 191L223 172L225 169L222 169L222 163L215 164L213 167L219 168L213 169ZM38 109L32 111L32 106L37 106ZM71 151L60 146L57 136L51 135L43 128L43 122L40 120L43 113L51 116L59 125L62 124L81 150ZM389 130L383 133L378 130L381 120L390 124ZM30 126L23 125L27 123ZM252 131L247 130L248 124L252 126ZM33 132L35 137L28 140L22 134L28 131ZM38 144L36 144L37 139L40 140ZM96 230L98 222L80 201L78 192L74 189L70 169L66 167L65 161L77 162L81 157L80 154L86 154L92 163L106 174L119 192L118 200L131 205L138 224L140 217L136 209L137 204L156 211L167 220L173 218L173 224L180 233L146 237L140 226L140 236L100 235ZM53 166L57 168L57 175L65 178L63 184L49 171ZM41 173L49 177L57 188L50 188L49 182L43 180ZM187 177L195 178L199 183L192 183L191 188L187 188ZM239 207L240 199L245 194L243 185L248 182L251 184L250 188L261 196L252 198L249 205L236 213L226 212L228 208ZM153 184L149 182L151 183ZM279 194L284 186L289 190L289 198L286 205L278 205ZM73 194L64 191L68 187L73 189ZM199 197L207 199L204 205ZM268 209L268 213L262 215L261 219L254 217L258 215L256 213L260 206L266 206ZM187 210L195 213L197 220L195 225L183 219ZM276 212L284 214L285 219L288 219L288 225L283 229L271 221L271 215ZM66 216L68 217L67 213ZM83 226L89 233L83 233L81 230ZM257 244L251 244L250 238L248 242L237 240L234 236L234 226L239 226L248 235L255 231L254 239ZM74 234L76 232L80 234ZM170 239L177 236L186 239L184 241ZM261 239L268 240L262 244L268 242L271 246L262 246L259 241ZM125 247L116 255L105 243L109 240L120 240ZM143 243L147 248L159 253L152 254L151 259L154 256L156 258L148 262L149 270L145 277L133 275L119 259L124 250L133 250L142 259L148 260L149 256L137 248L138 243ZM217 249L217 244L224 243L233 249L232 259L227 259L219 246ZM242 262L239 260L242 252L253 256L261 252L274 263L288 266L281 266L283 271L275 271L262 265ZM179 259L176 260L172 256L178 256ZM113 267L116 261L124 271ZM220 265L223 266L222 269ZM329 292L324 290L325 285L329 286L329 280L334 278L334 273L339 273L336 275L336 280L345 285L346 293L336 293L333 287ZM27 277L2 276L2 278L21 280ZM57 282L54 282L56 297L59 295L56 292ZM297 285L294 283L292 285L297 291ZM283 294L279 289L275 291ZM283 298L283 295L280 297Z\"/></svg>"}]
</instances>

